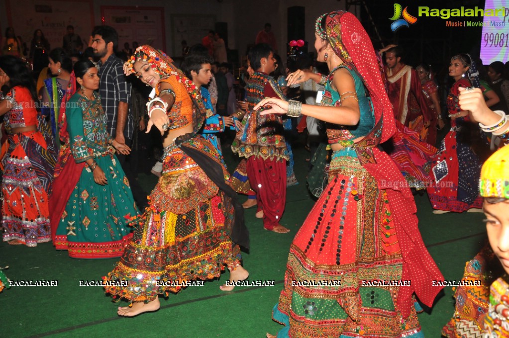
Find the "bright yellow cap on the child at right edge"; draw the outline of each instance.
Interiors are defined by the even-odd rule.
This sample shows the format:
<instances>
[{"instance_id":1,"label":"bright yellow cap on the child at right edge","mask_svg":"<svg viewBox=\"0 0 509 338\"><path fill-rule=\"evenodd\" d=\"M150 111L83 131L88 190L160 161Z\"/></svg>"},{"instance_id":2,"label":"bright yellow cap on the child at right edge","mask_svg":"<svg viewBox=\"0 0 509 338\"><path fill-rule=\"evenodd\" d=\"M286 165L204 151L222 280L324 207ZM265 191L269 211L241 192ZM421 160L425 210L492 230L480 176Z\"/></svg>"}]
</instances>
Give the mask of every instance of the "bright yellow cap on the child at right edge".
<instances>
[{"instance_id":1,"label":"bright yellow cap on the child at right edge","mask_svg":"<svg viewBox=\"0 0 509 338\"><path fill-rule=\"evenodd\" d=\"M483 197L509 199L509 145L495 151L480 171L479 192Z\"/></svg>"}]
</instances>

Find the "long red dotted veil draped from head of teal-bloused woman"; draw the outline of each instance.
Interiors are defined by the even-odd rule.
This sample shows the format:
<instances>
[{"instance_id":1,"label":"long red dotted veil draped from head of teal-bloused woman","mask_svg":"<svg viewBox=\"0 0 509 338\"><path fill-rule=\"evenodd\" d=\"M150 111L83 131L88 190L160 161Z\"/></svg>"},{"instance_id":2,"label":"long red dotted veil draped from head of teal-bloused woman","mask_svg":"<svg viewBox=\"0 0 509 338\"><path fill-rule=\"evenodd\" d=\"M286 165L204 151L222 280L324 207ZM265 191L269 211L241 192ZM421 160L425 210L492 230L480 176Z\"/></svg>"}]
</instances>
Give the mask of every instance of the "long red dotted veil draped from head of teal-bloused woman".
<instances>
[{"instance_id":1,"label":"long red dotted veil draped from head of teal-bloused woman","mask_svg":"<svg viewBox=\"0 0 509 338\"><path fill-rule=\"evenodd\" d=\"M357 72L373 102L376 125L358 143L360 147L372 149L372 152L364 150L361 153L361 164L379 183L383 180L405 182L395 163L376 147L394 134L395 124L392 106L382 81L381 68L366 31L353 14L335 11L318 18L316 33L320 38L328 40L334 52ZM365 156L366 153L368 156ZM369 156L371 154L373 158ZM404 261L402 280L411 281L410 286L399 288L397 298L398 310L407 318L413 302L412 294L415 292L421 302L432 306L435 296L442 289L440 286L433 286L433 281L443 281L443 276L422 242L412 193L404 185L403 188L399 186L394 184L394 188L384 189Z\"/></svg>"}]
</instances>

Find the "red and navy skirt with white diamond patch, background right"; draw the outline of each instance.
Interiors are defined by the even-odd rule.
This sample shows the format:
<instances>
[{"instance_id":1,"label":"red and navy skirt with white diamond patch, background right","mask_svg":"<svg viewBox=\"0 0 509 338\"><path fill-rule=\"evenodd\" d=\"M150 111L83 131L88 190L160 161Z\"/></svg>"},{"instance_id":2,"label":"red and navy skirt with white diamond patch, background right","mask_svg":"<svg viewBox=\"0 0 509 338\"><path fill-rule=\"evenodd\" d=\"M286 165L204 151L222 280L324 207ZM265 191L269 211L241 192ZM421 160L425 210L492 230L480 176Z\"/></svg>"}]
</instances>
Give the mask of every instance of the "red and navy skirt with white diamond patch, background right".
<instances>
[{"instance_id":1,"label":"red and navy skirt with white diamond patch, background right","mask_svg":"<svg viewBox=\"0 0 509 338\"><path fill-rule=\"evenodd\" d=\"M462 123L462 118L457 118ZM428 197L434 209L463 212L482 208L478 181L481 163L470 145L461 142L456 126L445 135L431 167Z\"/></svg>"}]
</instances>

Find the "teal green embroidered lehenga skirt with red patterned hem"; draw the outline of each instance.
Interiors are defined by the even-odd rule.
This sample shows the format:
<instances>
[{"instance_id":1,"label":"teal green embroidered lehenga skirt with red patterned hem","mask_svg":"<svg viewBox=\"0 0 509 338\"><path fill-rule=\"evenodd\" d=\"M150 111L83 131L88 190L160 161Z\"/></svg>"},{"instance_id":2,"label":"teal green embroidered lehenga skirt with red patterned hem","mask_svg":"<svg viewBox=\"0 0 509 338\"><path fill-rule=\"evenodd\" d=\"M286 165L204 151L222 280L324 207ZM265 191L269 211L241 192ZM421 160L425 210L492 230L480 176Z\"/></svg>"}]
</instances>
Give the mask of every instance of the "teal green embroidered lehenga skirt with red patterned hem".
<instances>
[{"instance_id":1,"label":"teal green embroidered lehenga skirt with red patterned hem","mask_svg":"<svg viewBox=\"0 0 509 338\"><path fill-rule=\"evenodd\" d=\"M131 217L138 214L117 157L105 151L95 161L108 183L98 185L90 167L84 167L56 229L55 249L67 250L72 258L120 257L132 236Z\"/></svg>"}]
</instances>

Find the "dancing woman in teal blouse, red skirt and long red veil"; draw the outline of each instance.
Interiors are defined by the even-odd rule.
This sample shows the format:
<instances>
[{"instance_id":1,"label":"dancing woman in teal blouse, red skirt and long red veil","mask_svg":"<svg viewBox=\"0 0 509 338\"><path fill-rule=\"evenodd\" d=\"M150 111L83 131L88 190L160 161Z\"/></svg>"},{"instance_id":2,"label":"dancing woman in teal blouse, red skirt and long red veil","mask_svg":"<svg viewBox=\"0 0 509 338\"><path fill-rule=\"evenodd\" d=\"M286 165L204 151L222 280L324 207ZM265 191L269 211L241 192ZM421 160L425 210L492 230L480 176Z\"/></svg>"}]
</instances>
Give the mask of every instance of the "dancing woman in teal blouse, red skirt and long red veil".
<instances>
[{"instance_id":1,"label":"dancing woman in teal blouse, red skirt and long red veil","mask_svg":"<svg viewBox=\"0 0 509 338\"><path fill-rule=\"evenodd\" d=\"M290 247L273 311L286 325L277 337L422 337L413 294L431 306L441 289L432 281L443 277L420 237L410 189L380 188L404 178L377 147L395 126L373 45L353 14L336 11L318 18L315 48L329 77L297 71L288 84L323 83L322 106L268 98L255 107L326 121L333 150L329 184ZM397 285L378 285L388 281Z\"/></svg>"}]
</instances>

